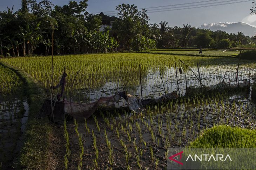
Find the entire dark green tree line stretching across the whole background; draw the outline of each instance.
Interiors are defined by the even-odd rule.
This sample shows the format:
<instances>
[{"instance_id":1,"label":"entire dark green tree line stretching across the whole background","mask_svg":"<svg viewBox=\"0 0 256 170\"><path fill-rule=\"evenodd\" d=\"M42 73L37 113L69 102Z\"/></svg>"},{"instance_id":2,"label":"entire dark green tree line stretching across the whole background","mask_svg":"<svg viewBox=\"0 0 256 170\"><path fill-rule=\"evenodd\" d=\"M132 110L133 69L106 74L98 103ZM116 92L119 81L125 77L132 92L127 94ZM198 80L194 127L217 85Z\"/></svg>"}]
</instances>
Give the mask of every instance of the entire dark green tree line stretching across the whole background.
<instances>
[{"instance_id":1,"label":"entire dark green tree line stretching across the whole background","mask_svg":"<svg viewBox=\"0 0 256 170\"><path fill-rule=\"evenodd\" d=\"M112 30L99 31L101 16L86 11L87 1L70 1L54 6L49 0L21 0L21 8L0 12L0 55L48 55L54 30L55 54L78 54L146 50L151 48L211 47L224 49L255 45L254 39L242 32L227 33L196 29L189 24L171 28L166 21L149 24L147 10L122 4L116 6L119 19ZM255 13L255 9L252 8ZM110 34L111 33L111 34Z\"/></svg>"}]
</instances>

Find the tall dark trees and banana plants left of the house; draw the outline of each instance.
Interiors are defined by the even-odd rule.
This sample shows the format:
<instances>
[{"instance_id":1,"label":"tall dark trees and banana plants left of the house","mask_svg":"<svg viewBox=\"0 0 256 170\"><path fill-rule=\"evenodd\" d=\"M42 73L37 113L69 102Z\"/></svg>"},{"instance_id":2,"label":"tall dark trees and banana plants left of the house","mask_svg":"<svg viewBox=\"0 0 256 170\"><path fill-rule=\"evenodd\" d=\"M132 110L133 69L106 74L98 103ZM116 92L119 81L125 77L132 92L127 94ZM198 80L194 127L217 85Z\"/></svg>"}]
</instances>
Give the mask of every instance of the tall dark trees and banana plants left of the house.
<instances>
[{"instance_id":1,"label":"tall dark trees and banana plants left of the house","mask_svg":"<svg viewBox=\"0 0 256 170\"><path fill-rule=\"evenodd\" d=\"M3 56L49 54L54 30L56 54L113 52L117 40L99 32L101 17L86 11L87 0L54 6L49 0L22 0L21 8L0 12L0 49Z\"/></svg>"}]
</instances>

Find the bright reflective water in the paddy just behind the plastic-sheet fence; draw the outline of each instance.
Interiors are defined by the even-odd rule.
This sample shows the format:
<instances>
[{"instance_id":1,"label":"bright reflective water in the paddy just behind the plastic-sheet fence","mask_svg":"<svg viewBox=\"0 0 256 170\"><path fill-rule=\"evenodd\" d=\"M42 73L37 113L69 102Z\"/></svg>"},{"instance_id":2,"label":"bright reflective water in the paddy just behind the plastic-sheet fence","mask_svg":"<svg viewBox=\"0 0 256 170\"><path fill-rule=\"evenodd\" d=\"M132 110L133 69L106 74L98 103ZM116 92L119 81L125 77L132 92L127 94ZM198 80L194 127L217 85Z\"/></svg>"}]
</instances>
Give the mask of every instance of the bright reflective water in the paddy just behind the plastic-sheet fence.
<instances>
[{"instance_id":1,"label":"bright reflective water in the paddy just behind the plastic-sheet fence","mask_svg":"<svg viewBox=\"0 0 256 170\"><path fill-rule=\"evenodd\" d=\"M182 74L179 73L177 68L177 76L178 76L178 86L180 89L180 95L184 96L186 93L186 79L187 77L187 87L200 87L200 83L198 79L196 79L193 72L188 69L186 66L180 67L182 70ZM213 86L217 83L222 82L223 80L227 83L235 84L236 83L236 65L214 65L214 66L203 66L200 67L200 76L201 81L204 86ZM198 77L197 67L191 67L194 73ZM163 79L161 80L161 76ZM239 82L244 82L245 80L252 80L252 76L255 75L256 69L250 68L249 65L242 65L238 70ZM225 79L224 79L225 75ZM163 86L164 84L164 86ZM117 82L106 82L103 83L101 88L93 89L93 90L77 90L76 96L82 96L87 99L87 102L93 102L102 97L107 97L111 95L115 95L117 87ZM174 67L164 67L164 68L149 68L147 75L142 77L142 95L143 99L147 98L156 98L163 94L164 88L167 93L177 91L177 80L176 80L176 70ZM89 90L89 91L88 91ZM132 94L141 98L141 88L140 83L134 82L129 83L127 81L120 80L118 89L119 91L126 90L127 93ZM81 98L80 98L81 100ZM122 106L122 104L120 105Z\"/></svg>"}]
</instances>

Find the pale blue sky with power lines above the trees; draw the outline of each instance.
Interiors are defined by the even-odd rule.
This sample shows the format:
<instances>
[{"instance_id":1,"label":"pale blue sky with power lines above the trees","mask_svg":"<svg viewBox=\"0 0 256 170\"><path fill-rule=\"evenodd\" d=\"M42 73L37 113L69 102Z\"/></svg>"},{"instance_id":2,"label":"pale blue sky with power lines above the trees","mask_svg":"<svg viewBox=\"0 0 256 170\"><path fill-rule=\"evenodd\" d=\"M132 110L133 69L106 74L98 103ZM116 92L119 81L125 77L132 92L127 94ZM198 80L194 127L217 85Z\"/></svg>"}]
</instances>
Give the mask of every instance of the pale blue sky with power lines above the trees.
<instances>
[{"instance_id":1,"label":"pale blue sky with power lines above the trees","mask_svg":"<svg viewBox=\"0 0 256 170\"><path fill-rule=\"evenodd\" d=\"M79 2L80 0L76 1ZM6 10L6 6L12 7L14 5L14 11L21 7L21 0L0 0L0 2L0 11ZM54 5L63 6L68 4L69 0L51 0L51 2ZM88 0L87 3L87 11L89 13L105 12L109 16L115 15L111 11L115 11L116 5L122 3L134 4L138 8L148 9L149 23L167 21L170 27L182 27L186 23L194 27L199 27L204 23L241 21L256 25L256 15L250 15L250 9L253 6L252 0ZM201 8L195 8L200 6ZM156 12L161 10L167 11Z\"/></svg>"}]
</instances>

